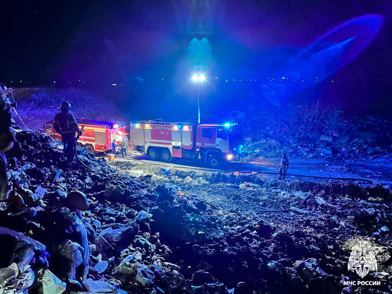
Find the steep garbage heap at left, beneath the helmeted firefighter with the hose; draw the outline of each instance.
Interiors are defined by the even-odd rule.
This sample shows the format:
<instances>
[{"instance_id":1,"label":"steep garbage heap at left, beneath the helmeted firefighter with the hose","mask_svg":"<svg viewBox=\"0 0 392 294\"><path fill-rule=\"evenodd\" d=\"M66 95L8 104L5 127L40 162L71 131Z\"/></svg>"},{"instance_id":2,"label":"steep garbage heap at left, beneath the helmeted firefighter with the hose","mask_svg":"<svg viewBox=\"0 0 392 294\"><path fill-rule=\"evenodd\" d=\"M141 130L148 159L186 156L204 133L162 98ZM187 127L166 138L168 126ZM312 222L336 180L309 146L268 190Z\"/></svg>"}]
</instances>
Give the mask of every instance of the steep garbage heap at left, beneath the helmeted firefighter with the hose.
<instances>
[{"instance_id":1,"label":"steep garbage heap at left, beneath the helmeted firefighter with the hose","mask_svg":"<svg viewBox=\"0 0 392 294\"><path fill-rule=\"evenodd\" d=\"M80 158L92 169L67 166L61 144L43 134L17 131L16 138L6 154L11 191L0 211L7 244L1 291L164 293L177 281L191 292L150 228L154 219L155 228L172 230L165 218L177 215L181 224L170 187L121 177L83 149Z\"/></svg>"}]
</instances>

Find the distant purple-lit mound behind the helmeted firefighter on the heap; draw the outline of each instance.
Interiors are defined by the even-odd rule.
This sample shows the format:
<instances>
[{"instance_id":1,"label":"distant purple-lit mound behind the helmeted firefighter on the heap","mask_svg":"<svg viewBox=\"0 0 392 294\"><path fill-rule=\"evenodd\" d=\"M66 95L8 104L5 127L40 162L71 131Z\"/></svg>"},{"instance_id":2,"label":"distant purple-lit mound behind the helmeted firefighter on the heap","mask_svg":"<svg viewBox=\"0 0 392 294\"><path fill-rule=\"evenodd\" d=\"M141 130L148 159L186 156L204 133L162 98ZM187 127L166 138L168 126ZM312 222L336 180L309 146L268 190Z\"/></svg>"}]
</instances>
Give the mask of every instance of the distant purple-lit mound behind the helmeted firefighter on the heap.
<instances>
[{"instance_id":1,"label":"distant purple-lit mound behind the helmeted firefighter on the heap","mask_svg":"<svg viewBox=\"0 0 392 294\"><path fill-rule=\"evenodd\" d=\"M64 101L72 105L76 119L86 118L109 122L122 122L123 114L116 105L96 94L81 89L55 88L17 88L14 97L18 103L19 114L27 127L41 130L44 123L53 120L57 108ZM96 107L105 105L106 107ZM18 118L14 118L19 122Z\"/></svg>"}]
</instances>

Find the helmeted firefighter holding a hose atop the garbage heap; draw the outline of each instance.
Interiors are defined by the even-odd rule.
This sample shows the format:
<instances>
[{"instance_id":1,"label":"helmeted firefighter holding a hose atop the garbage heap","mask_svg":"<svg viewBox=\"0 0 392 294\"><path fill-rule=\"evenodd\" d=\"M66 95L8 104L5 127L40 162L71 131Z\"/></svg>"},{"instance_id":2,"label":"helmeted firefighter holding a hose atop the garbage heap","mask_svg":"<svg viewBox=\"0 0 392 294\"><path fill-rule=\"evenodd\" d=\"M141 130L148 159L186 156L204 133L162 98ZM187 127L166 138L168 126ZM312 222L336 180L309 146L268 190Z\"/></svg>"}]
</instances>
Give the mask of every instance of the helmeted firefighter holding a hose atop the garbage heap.
<instances>
[{"instance_id":1,"label":"helmeted firefighter holding a hose atop the garbage heap","mask_svg":"<svg viewBox=\"0 0 392 294\"><path fill-rule=\"evenodd\" d=\"M71 162L75 158L75 132L82 135L82 130L76 123L75 118L70 113L71 104L68 101L61 103L60 113L54 117L53 126L57 133L61 134L64 144L64 156Z\"/></svg>"}]
</instances>

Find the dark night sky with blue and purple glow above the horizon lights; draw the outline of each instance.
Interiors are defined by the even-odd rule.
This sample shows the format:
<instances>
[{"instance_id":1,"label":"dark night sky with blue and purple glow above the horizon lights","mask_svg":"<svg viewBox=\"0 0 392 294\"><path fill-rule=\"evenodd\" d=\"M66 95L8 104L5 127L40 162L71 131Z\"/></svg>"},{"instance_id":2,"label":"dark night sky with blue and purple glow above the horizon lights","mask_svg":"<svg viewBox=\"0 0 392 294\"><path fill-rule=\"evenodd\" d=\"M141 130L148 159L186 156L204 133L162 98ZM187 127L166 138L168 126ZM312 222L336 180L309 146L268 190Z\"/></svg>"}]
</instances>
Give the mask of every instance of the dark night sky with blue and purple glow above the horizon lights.
<instances>
[{"instance_id":1,"label":"dark night sky with blue and purple glow above the horizon lights","mask_svg":"<svg viewBox=\"0 0 392 294\"><path fill-rule=\"evenodd\" d=\"M385 103L391 104L391 0L14 0L2 8L1 82L10 85L22 79L20 86L27 81L45 85L58 79L61 86L68 80L91 79L96 91L98 85L126 84L136 76L186 80L186 49L195 36L211 43L211 74L239 78L263 72L267 57L288 58L349 19L379 14L384 19L380 32L331 77L351 84L318 85L297 93L345 103L346 109L360 105L361 111L373 104L384 111ZM380 84L376 79L381 78L391 80ZM169 85L162 95L170 97L182 83ZM146 88L143 95L128 92L119 103L143 100L160 87ZM220 93L210 94L224 98L233 96L233 89L221 87ZM254 99L255 92L237 90L241 96L248 91L248 100Z\"/></svg>"}]
</instances>

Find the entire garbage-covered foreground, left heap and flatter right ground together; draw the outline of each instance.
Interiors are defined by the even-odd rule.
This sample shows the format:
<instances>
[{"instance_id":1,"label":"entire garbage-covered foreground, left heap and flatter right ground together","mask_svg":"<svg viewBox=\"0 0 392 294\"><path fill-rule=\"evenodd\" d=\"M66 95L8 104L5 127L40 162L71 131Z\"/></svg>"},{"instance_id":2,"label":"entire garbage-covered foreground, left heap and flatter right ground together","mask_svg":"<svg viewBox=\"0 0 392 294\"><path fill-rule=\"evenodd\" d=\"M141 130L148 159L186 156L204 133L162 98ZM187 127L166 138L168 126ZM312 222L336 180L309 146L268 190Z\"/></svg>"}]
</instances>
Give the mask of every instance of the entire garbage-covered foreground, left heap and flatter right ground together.
<instances>
[{"instance_id":1,"label":"entire garbage-covered foreground, left heap and flatter right ground together","mask_svg":"<svg viewBox=\"0 0 392 294\"><path fill-rule=\"evenodd\" d=\"M2 293L353 293L347 242L359 237L378 259L367 278L381 281L359 289L392 290L386 185L174 169L136 178L84 149L91 169L68 166L43 134L16 138L0 211Z\"/></svg>"}]
</instances>

